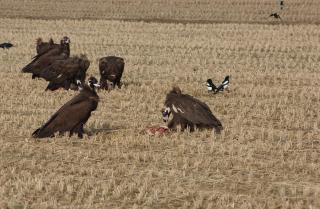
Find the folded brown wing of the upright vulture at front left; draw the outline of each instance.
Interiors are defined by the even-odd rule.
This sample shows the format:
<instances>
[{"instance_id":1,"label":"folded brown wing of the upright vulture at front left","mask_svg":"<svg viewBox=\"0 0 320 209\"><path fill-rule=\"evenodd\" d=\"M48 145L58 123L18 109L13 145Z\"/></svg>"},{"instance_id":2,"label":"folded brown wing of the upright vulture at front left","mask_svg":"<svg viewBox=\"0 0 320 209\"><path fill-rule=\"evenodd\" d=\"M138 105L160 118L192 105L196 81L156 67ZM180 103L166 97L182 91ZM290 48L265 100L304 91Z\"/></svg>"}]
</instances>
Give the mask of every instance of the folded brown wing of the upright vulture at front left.
<instances>
[{"instance_id":1,"label":"folded brown wing of the upright vulture at front left","mask_svg":"<svg viewBox=\"0 0 320 209\"><path fill-rule=\"evenodd\" d=\"M55 132L72 130L87 120L91 112L91 102L83 94L78 94L64 104L42 127L33 132L35 138L51 137Z\"/></svg>"}]
</instances>

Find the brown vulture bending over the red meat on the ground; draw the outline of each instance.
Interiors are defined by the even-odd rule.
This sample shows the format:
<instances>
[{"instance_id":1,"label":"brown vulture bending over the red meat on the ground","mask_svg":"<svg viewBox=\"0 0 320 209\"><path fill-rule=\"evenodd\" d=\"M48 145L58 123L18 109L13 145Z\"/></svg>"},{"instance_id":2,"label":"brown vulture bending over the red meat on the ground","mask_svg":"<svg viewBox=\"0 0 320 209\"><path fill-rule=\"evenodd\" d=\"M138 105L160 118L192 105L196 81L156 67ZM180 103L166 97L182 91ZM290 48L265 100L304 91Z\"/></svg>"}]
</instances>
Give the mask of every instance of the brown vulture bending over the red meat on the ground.
<instances>
[{"instance_id":1,"label":"brown vulture bending over the red meat on the ground","mask_svg":"<svg viewBox=\"0 0 320 209\"><path fill-rule=\"evenodd\" d=\"M188 94L182 94L179 87L174 87L167 94L161 111L164 122L168 123L168 128L172 130L179 126L182 131L214 128L217 133L220 133L223 130L221 122L212 114L208 105ZM171 113L172 119L169 121Z\"/></svg>"}]
</instances>

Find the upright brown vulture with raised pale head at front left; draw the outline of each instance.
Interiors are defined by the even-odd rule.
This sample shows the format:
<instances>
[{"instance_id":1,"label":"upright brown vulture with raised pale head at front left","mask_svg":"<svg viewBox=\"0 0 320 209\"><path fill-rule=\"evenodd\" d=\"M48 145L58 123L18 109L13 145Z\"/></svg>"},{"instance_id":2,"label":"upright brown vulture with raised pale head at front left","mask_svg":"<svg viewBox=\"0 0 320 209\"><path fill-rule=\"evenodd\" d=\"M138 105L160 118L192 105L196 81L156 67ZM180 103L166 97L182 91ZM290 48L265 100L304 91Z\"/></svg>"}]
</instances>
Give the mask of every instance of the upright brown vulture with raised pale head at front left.
<instances>
[{"instance_id":1,"label":"upright brown vulture with raised pale head at front left","mask_svg":"<svg viewBox=\"0 0 320 209\"><path fill-rule=\"evenodd\" d=\"M96 88L99 87L98 80L90 77L88 85L82 85L80 93L64 104L51 118L40 128L32 133L34 138L53 137L56 132L63 134L74 133L79 138L83 137L83 126L88 121L91 112L97 109L99 96Z\"/></svg>"}]
</instances>

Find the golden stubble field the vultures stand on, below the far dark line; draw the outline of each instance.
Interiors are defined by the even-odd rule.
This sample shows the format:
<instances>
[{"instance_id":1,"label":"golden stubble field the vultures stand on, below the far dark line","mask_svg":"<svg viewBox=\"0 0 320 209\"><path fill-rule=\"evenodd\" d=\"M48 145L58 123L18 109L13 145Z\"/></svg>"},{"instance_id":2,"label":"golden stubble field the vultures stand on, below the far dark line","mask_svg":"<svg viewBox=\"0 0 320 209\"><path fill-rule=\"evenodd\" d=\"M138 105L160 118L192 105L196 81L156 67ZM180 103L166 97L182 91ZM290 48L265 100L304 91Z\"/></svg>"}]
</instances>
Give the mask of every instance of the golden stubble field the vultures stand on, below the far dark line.
<instances>
[{"instance_id":1,"label":"golden stubble field the vultures stand on, below the far dark line","mask_svg":"<svg viewBox=\"0 0 320 209\"><path fill-rule=\"evenodd\" d=\"M317 25L36 18L0 19L1 41L16 45L0 50L0 208L320 207ZM34 140L77 92L45 92L20 69L37 37L64 35L91 60L88 75L98 77L98 58L123 57L124 87L98 92L83 140ZM207 92L207 78L227 74L230 92ZM162 123L174 85L224 131L140 133Z\"/></svg>"}]
</instances>

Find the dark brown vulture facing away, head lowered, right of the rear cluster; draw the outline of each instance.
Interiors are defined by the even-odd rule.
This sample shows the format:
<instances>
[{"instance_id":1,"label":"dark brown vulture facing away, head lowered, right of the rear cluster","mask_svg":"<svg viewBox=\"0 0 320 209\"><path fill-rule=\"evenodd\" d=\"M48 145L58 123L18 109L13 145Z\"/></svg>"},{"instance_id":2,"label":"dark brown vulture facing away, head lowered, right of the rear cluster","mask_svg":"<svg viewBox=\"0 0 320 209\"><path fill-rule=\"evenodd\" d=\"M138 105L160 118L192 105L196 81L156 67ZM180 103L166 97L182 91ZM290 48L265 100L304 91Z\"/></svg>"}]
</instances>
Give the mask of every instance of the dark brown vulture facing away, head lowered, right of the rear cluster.
<instances>
[{"instance_id":1,"label":"dark brown vulture facing away, head lowered, right of the rear cluster","mask_svg":"<svg viewBox=\"0 0 320 209\"><path fill-rule=\"evenodd\" d=\"M121 77L124 70L124 60L121 57L108 56L99 59L100 85L102 89L113 89L115 85L121 88Z\"/></svg>"}]
</instances>

